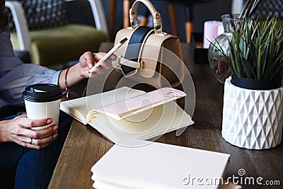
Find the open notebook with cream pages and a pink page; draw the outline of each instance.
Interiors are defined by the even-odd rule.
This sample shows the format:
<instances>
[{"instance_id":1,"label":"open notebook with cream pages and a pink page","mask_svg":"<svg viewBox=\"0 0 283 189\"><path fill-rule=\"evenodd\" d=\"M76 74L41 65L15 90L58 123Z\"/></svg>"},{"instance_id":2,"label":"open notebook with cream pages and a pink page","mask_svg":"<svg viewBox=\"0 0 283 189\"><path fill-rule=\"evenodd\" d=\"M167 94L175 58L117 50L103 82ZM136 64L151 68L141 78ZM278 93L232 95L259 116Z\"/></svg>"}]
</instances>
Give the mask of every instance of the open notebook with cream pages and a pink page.
<instances>
[{"instance_id":1,"label":"open notebook with cream pages and a pink page","mask_svg":"<svg viewBox=\"0 0 283 189\"><path fill-rule=\"evenodd\" d=\"M122 87L64 101L60 109L116 143L125 138L151 139L191 125L190 115L173 101L183 96L173 88L145 93Z\"/></svg>"}]
</instances>

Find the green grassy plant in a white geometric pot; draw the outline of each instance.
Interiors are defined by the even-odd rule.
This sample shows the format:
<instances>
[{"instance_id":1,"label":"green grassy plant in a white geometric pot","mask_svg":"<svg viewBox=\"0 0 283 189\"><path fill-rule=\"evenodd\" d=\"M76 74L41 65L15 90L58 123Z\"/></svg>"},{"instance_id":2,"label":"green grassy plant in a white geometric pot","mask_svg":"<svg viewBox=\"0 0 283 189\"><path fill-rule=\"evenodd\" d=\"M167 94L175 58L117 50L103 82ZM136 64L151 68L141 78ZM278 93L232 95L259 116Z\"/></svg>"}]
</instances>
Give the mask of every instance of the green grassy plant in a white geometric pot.
<instances>
[{"instance_id":1,"label":"green grassy plant in a white geometric pot","mask_svg":"<svg viewBox=\"0 0 283 189\"><path fill-rule=\"evenodd\" d=\"M231 32L224 84L222 137L238 147L269 149L282 140L283 32L277 18L244 19Z\"/></svg>"}]
</instances>

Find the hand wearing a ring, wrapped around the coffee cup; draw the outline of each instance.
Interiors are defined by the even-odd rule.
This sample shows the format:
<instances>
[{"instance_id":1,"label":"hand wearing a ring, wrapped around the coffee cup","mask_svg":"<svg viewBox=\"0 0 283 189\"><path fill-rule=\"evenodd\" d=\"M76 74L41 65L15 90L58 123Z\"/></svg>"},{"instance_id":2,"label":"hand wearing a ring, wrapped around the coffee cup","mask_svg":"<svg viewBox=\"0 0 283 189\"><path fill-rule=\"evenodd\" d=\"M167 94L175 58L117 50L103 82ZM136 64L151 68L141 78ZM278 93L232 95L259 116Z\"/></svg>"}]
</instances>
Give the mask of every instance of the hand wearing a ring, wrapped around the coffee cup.
<instances>
[{"instance_id":1,"label":"hand wearing a ring, wrapped around the coffee cup","mask_svg":"<svg viewBox=\"0 0 283 189\"><path fill-rule=\"evenodd\" d=\"M52 125L42 130L32 130L32 127L50 125L50 118L30 120L26 115L19 115L13 120L0 122L1 142L16 142L23 147L42 149L58 137L58 125Z\"/></svg>"}]
</instances>

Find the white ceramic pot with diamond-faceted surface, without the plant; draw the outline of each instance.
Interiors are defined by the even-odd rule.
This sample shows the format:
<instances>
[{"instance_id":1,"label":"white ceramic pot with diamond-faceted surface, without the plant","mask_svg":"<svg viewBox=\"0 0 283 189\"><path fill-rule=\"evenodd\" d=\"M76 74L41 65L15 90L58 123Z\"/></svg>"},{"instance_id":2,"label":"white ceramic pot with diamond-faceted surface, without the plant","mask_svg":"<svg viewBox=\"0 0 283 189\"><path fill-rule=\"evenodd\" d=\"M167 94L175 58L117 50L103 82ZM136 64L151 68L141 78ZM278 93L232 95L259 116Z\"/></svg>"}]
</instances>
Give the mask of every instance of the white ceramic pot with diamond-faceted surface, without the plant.
<instances>
[{"instance_id":1,"label":"white ceramic pot with diamond-faceted surface, without the plant","mask_svg":"<svg viewBox=\"0 0 283 189\"><path fill-rule=\"evenodd\" d=\"M281 143L283 86L252 90L231 84L224 86L222 137L237 147L270 149Z\"/></svg>"}]
</instances>

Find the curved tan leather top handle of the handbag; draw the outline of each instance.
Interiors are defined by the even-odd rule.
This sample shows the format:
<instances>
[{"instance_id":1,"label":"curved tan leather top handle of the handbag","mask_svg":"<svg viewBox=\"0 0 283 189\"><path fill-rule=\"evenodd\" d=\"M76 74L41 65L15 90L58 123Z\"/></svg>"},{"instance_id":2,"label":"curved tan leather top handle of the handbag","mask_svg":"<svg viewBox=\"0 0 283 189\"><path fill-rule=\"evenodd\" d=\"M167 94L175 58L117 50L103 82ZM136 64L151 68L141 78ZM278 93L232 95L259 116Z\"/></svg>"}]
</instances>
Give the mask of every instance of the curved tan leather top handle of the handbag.
<instances>
[{"instance_id":1,"label":"curved tan leather top handle of the handbag","mask_svg":"<svg viewBox=\"0 0 283 189\"><path fill-rule=\"evenodd\" d=\"M144 4L149 11L151 12L152 17L154 18L154 33L162 34L162 21L161 14L156 11L156 8L149 0L136 0L132 5L132 8L129 9L129 22L131 23L132 28L136 28L139 25L139 21L137 19L137 7L139 3Z\"/></svg>"}]
</instances>

